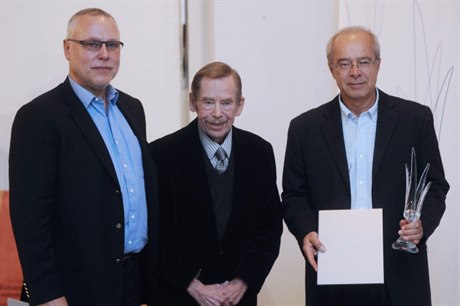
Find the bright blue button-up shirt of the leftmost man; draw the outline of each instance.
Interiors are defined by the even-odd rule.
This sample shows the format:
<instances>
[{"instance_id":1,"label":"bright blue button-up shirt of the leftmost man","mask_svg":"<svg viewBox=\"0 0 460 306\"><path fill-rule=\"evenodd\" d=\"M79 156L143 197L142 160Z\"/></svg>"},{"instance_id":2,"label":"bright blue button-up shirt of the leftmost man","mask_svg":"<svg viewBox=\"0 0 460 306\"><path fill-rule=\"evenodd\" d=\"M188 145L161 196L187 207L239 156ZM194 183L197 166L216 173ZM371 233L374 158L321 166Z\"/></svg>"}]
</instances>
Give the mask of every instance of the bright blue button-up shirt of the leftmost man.
<instances>
[{"instance_id":1,"label":"bright blue button-up shirt of the leftmost man","mask_svg":"<svg viewBox=\"0 0 460 306\"><path fill-rule=\"evenodd\" d=\"M138 253L147 243L147 200L139 141L120 109L119 93L109 85L104 101L77 84L70 84L94 121L109 151L123 197L125 254ZM91 175L88 173L88 175Z\"/></svg>"}]
</instances>

